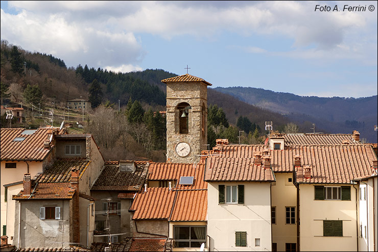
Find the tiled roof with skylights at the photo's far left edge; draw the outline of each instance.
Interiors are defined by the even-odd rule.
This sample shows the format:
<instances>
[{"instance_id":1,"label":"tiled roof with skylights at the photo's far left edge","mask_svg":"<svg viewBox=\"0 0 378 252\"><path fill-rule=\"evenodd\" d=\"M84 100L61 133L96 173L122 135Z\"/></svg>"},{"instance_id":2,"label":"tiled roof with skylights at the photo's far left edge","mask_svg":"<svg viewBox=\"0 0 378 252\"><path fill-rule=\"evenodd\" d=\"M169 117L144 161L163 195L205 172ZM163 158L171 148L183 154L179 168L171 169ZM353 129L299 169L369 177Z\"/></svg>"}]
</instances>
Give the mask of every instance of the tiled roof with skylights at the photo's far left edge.
<instances>
[{"instance_id":1,"label":"tiled roof with skylights at the photo's far left edge","mask_svg":"<svg viewBox=\"0 0 378 252\"><path fill-rule=\"evenodd\" d=\"M51 128L39 128L33 134L21 134L25 129L2 128L1 160L43 160L51 148L44 148L43 142L49 140ZM25 137L22 141L14 141L16 137Z\"/></svg>"}]
</instances>

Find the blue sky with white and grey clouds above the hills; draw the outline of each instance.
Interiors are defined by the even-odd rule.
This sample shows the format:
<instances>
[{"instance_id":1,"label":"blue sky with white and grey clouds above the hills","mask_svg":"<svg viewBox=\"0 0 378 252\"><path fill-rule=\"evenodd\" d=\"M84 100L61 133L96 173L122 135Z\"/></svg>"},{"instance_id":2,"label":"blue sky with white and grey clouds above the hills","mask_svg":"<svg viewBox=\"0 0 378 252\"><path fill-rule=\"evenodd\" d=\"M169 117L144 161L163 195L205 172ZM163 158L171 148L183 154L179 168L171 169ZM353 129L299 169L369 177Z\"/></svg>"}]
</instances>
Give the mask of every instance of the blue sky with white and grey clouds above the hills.
<instances>
[{"instance_id":1,"label":"blue sky with white and grey clouds above the hills","mask_svg":"<svg viewBox=\"0 0 378 252\"><path fill-rule=\"evenodd\" d=\"M0 37L53 54L67 67L163 69L201 77L212 88L358 98L378 92L377 7L376 1L1 1Z\"/></svg>"}]
</instances>

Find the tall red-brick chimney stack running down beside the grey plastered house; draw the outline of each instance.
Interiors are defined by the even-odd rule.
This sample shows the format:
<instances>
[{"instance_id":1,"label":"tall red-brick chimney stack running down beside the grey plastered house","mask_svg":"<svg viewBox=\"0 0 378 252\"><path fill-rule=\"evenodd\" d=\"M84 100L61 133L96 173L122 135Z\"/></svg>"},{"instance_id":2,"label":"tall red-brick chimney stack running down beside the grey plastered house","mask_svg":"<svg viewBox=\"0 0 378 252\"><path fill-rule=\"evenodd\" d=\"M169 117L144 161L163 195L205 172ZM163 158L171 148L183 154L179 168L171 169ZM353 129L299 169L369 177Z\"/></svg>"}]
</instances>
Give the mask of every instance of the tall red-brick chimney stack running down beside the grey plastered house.
<instances>
[{"instance_id":1,"label":"tall red-brick chimney stack running down beside the grey plastered house","mask_svg":"<svg viewBox=\"0 0 378 252\"><path fill-rule=\"evenodd\" d=\"M79 214L79 169L71 168L71 188L75 190L72 198L72 232L70 241L80 243L80 214Z\"/></svg>"}]
</instances>

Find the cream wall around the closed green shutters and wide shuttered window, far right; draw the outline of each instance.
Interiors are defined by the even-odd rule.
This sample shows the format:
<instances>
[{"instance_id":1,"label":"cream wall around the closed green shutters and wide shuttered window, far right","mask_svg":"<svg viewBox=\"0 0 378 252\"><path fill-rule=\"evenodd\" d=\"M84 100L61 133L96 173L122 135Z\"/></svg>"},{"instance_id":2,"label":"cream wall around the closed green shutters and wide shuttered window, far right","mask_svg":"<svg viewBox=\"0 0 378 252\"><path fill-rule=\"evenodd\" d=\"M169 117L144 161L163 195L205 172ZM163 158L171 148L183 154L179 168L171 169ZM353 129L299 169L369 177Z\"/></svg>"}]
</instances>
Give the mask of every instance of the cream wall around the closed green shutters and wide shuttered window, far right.
<instances>
[{"instance_id":1,"label":"cream wall around the closed green shutters and wide shuttered window, far right","mask_svg":"<svg viewBox=\"0 0 378 252\"><path fill-rule=\"evenodd\" d=\"M357 251L355 188L350 185L350 201L315 200L314 185L300 184L299 189L300 250ZM343 220L343 236L323 236L323 220Z\"/></svg>"}]
</instances>

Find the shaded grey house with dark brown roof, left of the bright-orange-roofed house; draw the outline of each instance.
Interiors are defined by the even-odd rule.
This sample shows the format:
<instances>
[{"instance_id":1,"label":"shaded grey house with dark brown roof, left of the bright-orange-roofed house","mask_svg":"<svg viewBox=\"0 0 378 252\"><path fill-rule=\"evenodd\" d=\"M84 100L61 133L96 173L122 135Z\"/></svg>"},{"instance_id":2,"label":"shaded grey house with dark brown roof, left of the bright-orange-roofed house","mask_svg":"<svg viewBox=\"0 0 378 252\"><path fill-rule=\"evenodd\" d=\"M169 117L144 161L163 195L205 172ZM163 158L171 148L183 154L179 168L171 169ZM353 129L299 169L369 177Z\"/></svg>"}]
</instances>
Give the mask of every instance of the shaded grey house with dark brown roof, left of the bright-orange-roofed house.
<instances>
[{"instance_id":1,"label":"shaded grey house with dark brown roof, left of the bright-orange-roofed house","mask_svg":"<svg viewBox=\"0 0 378 252\"><path fill-rule=\"evenodd\" d=\"M95 218L95 242L117 243L132 236L128 209L135 194L144 187L148 165L148 161L105 162L90 190L91 196L97 199L96 209L99 209Z\"/></svg>"}]
</instances>

